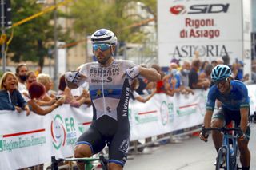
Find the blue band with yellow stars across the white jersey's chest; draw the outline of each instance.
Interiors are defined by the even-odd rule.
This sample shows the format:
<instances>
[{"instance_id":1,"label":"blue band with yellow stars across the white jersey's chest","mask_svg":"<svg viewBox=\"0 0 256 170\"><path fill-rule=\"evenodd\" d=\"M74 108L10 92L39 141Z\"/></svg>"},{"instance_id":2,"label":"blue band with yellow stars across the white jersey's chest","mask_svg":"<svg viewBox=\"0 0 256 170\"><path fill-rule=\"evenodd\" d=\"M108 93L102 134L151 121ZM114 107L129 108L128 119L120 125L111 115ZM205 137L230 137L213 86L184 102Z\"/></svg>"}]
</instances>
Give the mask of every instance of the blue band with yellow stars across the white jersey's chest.
<instances>
[{"instance_id":1,"label":"blue band with yellow stars across the white jersey's chest","mask_svg":"<svg viewBox=\"0 0 256 170\"><path fill-rule=\"evenodd\" d=\"M122 89L104 89L104 97L119 99ZM90 90L90 98L92 100L103 97L102 89Z\"/></svg>"}]
</instances>

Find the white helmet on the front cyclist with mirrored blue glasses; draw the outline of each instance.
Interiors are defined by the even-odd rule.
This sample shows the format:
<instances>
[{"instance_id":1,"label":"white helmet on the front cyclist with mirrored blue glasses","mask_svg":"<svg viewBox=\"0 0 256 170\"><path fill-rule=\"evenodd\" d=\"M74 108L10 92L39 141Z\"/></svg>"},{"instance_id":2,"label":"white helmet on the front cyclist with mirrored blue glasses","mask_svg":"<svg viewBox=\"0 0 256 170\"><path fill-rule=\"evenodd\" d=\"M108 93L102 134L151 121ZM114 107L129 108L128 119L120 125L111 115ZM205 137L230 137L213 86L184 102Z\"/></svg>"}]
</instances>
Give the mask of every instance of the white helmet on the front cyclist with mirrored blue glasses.
<instances>
[{"instance_id":1,"label":"white helmet on the front cyclist with mirrored blue glasses","mask_svg":"<svg viewBox=\"0 0 256 170\"><path fill-rule=\"evenodd\" d=\"M92 34L90 38L91 42L94 43L108 43L111 45L117 45L118 44L118 38L115 36L115 34L106 29L100 29L96 30L94 34Z\"/></svg>"}]
</instances>

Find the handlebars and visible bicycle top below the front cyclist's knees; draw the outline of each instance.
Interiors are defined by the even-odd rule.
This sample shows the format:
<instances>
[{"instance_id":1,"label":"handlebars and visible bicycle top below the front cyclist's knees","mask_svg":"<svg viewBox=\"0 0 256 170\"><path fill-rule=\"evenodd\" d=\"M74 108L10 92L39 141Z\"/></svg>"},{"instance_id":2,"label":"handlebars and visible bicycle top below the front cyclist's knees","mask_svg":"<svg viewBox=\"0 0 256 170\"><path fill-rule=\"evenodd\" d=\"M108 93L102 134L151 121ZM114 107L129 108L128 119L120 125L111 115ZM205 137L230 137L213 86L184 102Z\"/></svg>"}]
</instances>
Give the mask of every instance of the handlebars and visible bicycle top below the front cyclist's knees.
<instances>
[{"instance_id":1,"label":"handlebars and visible bicycle top below the front cyclist's knees","mask_svg":"<svg viewBox=\"0 0 256 170\"><path fill-rule=\"evenodd\" d=\"M90 157L83 157L83 158L60 158L56 159L55 156L51 156L51 170L58 170L58 164L63 161L78 161L83 162L86 164L85 170L94 170L94 161L99 161L102 165L102 170L107 170L107 160L103 155L98 156L98 158L90 158Z\"/></svg>"}]
</instances>

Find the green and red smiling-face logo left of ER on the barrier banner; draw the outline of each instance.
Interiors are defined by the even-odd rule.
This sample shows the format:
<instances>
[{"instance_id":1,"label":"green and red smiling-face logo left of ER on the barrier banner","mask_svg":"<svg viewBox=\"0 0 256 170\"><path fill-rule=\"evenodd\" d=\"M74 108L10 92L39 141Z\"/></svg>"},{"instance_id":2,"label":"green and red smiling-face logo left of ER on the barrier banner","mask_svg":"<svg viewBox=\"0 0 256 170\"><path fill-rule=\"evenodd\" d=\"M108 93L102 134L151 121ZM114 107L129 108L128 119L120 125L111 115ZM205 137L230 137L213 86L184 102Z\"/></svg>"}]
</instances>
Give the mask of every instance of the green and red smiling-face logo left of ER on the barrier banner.
<instances>
[{"instance_id":1,"label":"green and red smiling-face logo left of ER on the barrier banner","mask_svg":"<svg viewBox=\"0 0 256 170\"><path fill-rule=\"evenodd\" d=\"M64 121L60 115L54 117L54 121L51 121L50 132L53 139L54 148L57 150L64 146L66 143L66 129L64 128Z\"/></svg>"}]
</instances>

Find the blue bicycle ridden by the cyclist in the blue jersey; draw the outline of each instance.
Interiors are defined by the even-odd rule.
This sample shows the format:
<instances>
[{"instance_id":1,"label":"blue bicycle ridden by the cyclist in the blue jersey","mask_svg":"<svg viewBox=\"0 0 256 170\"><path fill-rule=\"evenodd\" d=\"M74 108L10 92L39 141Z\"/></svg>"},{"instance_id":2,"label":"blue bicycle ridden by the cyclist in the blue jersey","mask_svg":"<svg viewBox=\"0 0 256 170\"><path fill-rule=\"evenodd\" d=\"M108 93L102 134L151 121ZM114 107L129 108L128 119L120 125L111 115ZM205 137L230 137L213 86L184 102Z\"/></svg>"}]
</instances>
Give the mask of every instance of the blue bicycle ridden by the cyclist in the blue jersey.
<instances>
[{"instance_id":1,"label":"blue bicycle ridden by the cyclist in the blue jersey","mask_svg":"<svg viewBox=\"0 0 256 170\"><path fill-rule=\"evenodd\" d=\"M241 128L202 128L202 132L219 131L223 134L222 147L218 149L216 170L237 170L239 167L240 152L238 150L237 139L242 135ZM234 135L229 132L233 131ZM234 152L234 153L232 153Z\"/></svg>"}]
</instances>

